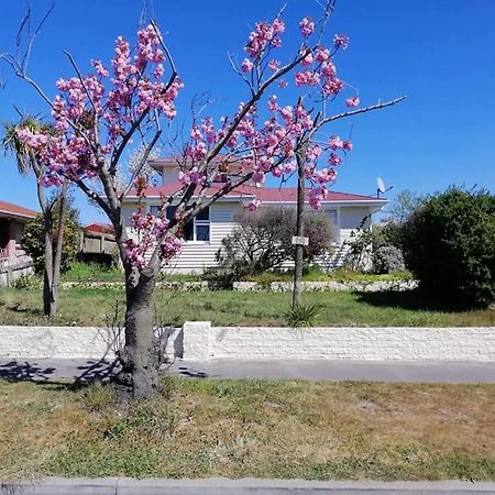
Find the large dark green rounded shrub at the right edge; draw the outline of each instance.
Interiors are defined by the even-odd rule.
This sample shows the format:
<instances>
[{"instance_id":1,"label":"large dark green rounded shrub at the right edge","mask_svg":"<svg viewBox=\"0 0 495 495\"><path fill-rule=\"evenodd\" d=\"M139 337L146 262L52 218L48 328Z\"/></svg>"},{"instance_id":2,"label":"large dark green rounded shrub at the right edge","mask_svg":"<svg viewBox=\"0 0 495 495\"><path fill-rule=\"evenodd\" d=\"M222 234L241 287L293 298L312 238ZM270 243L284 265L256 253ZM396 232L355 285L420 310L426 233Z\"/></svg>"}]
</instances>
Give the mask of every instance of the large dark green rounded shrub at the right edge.
<instances>
[{"instance_id":1,"label":"large dark green rounded shrub at the right edge","mask_svg":"<svg viewBox=\"0 0 495 495\"><path fill-rule=\"evenodd\" d=\"M429 198L405 224L404 251L429 293L487 306L495 299L495 197L451 188Z\"/></svg>"}]
</instances>

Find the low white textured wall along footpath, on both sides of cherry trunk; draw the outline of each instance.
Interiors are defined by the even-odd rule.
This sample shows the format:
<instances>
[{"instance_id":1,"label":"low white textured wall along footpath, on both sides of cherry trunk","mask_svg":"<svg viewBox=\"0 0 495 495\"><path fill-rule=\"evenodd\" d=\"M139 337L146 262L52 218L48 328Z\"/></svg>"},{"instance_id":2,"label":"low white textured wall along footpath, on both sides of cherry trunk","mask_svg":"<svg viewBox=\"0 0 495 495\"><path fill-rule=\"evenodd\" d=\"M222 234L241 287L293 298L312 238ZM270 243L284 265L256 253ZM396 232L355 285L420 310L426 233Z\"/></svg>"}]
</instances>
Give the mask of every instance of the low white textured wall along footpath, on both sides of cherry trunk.
<instances>
[{"instance_id":1,"label":"low white textured wall along footpath, on both sides of cherry trunk","mask_svg":"<svg viewBox=\"0 0 495 495\"><path fill-rule=\"evenodd\" d=\"M495 328L211 327L165 329L168 358L495 361ZM0 356L113 359L122 333L81 327L0 327Z\"/></svg>"}]
</instances>

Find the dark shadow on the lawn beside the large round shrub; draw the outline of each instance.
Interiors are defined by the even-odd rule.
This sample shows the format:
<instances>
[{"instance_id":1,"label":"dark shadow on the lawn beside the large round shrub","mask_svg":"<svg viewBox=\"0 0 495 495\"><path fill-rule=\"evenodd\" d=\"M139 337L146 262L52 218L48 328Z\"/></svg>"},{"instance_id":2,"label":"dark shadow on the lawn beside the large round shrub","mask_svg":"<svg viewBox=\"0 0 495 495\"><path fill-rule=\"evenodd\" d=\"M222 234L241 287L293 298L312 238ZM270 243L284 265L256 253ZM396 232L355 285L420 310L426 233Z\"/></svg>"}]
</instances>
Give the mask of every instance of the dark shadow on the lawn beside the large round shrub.
<instances>
[{"instance_id":1,"label":"dark shadow on the lawn beside the large round shrub","mask_svg":"<svg viewBox=\"0 0 495 495\"><path fill-rule=\"evenodd\" d=\"M459 312L473 308L465 302L452 298L432 296L421 289L382 290L376 293L356 293L356 300L382 308L400 308L411 311Z\"/></svg>"}]
</instances>

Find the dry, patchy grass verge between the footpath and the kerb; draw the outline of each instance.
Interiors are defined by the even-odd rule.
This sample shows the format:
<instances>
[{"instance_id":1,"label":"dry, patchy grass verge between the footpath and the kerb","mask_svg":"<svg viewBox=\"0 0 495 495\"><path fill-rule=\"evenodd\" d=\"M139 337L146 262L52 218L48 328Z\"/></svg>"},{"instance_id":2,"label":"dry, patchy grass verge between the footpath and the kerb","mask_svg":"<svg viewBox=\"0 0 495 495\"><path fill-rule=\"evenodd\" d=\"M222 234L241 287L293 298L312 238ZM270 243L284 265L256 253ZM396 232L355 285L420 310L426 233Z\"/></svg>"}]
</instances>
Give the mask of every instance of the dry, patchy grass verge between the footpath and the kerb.
<instances>
[{"instance_id":1,"label":"dry, patchy grass verge between the footpath and the kerb","mask_svg":"<svg viewBox=\"0 0 495 495\"><path fill-rule=\"evenodd\" d=\"M99 386L0 381L0 479L495 480L495 386L166 378L117 407Z\"/></svg>"}]
</instances>

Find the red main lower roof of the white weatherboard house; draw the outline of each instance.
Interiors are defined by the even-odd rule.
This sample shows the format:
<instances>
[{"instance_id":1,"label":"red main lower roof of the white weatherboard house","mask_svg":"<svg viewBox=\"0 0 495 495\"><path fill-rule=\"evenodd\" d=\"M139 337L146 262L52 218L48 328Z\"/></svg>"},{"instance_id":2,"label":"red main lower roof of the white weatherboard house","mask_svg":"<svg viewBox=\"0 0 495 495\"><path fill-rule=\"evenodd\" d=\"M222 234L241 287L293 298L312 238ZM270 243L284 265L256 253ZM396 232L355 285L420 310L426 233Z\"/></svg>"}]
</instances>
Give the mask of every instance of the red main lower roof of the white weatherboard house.
<instances>
[{"instance_id":1,"label":"red main lower roof of the white weatherboard house","mask_svg":"<svg viewBox=\"0 0 495 495\"><path fill-rule=\"evenodd\" d=\"M160 196L170 196L182 188L180 183L166 184L163 186L150 187L145 191L147 198L156 198ZM222 188L222 184L213 184L207 191L207 197L212 196L215 193ZM257 198L262 202L296 202L297 189L295 187L254 187L254 186L240 186L234 190L231 190L226 195L227 197L248 197ZM132 189L128 198L135 198L135 190ZM351 195L349 193L337 193L330 190L323 202L354 202L354 201L380 201L385 202L383 198L375 198L373 196Z\"/></svg>"}]
</instances>

